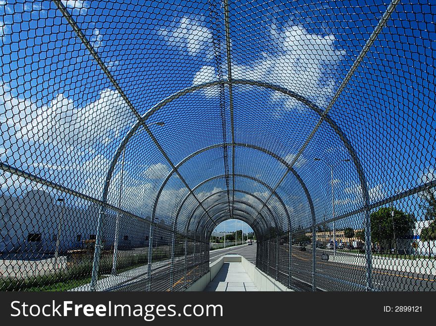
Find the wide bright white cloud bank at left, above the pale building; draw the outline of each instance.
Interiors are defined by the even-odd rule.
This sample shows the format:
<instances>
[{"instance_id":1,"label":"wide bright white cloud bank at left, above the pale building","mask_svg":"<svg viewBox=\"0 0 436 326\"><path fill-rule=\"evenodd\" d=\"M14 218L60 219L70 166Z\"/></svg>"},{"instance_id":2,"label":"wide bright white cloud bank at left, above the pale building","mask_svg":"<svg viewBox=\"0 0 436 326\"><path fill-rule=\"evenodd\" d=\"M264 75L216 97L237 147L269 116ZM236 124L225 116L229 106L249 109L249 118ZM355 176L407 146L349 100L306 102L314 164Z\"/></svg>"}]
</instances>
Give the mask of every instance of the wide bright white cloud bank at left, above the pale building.
<instances>
[{"instance_id":1,"label":"wide bright white cloud bank at left, above the pale building","mask_svg":"<svg viewBox=\"0 0 436 326\"><path fill-rule=\"evenodd\" d=\"M0 115L5 117L6 126L2 124L1 131L17 130L17 138L62 143L68 147L107 144L134 121L124 100L110 89L103 90L95 102L81 109L74 107L73 101L63 94L58 94L48 105L37 107L30 100L6 92L0 96L1 103Z\"/></svg>"}]
</instances>

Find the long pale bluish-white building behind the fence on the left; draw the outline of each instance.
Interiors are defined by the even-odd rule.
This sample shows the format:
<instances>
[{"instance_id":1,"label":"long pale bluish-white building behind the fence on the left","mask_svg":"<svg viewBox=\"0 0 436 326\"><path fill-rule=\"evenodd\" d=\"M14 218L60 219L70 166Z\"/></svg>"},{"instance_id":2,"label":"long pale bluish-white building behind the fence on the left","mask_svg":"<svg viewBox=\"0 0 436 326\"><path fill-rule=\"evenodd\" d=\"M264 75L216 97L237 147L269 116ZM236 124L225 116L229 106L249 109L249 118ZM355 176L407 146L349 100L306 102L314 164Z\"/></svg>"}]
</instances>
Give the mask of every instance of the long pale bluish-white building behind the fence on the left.
<instances>
[{"instance_id":1,"label":"long pale bluish-white building behind the fence on the left","mask_svg":"<svg viewBox=\"0 0 436 326\"><path fill-rule=\"evenodd\" d=\"M63 204L62 204L63 205ZM87 240L95 240L100 206L63 206L59 250L79 249ZM39 256L55 251L62 206L47 192L32 190L23 196L0 195L0 253L2 255ZM103 245L113 246L116 214L107 212L103 227ZM148 247L148 223L127 216L119 219L118 248ZM156 229L154 246L168 245L168 232Z\"/></svg>"}]
</instances>

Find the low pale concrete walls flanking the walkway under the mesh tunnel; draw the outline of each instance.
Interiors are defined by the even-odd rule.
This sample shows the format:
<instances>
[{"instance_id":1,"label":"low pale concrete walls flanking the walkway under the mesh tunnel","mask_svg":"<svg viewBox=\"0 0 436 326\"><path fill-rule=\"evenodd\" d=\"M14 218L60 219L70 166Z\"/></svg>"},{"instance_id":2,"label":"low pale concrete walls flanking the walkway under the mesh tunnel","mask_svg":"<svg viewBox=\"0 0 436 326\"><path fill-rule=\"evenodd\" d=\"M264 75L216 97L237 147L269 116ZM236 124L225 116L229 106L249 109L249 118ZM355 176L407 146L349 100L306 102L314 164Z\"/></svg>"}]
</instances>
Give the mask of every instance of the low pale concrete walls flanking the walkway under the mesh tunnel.
<instances>
[{"instance_id":1,"label":"low pale concrete walls flanking the walkway under the mesh tunnel","mask_svg":"<svg viewBox=\"0 0 436 326\"><path fill-rule=\"evenodd\" d=\"M203 291L206 286L217 276L224 262L241 262L248 276L259 289L259 291L294 291L288 289L285 285L276 281L271 276L268 276L263 271L258 269L250 261L239 255L226 255L210 265L210 270L197 281L192 283L185 291Z\"/></svg>"}]
</instances>

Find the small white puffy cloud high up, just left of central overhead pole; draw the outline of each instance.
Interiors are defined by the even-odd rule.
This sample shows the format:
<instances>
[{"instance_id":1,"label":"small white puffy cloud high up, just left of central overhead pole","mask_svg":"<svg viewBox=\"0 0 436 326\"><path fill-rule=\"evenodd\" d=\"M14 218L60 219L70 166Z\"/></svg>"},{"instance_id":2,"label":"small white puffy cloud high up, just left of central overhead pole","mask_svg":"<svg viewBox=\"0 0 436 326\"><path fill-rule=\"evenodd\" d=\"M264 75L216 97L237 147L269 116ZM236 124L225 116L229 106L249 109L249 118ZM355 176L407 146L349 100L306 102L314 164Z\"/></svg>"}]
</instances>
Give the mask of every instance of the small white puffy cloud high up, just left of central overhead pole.
<instances>
[{"instance_id":1,"label":"small white puffy cloud high up, just left of central overhead pole","mask_svg":"<svg viewBox=\"0 0 436 326\"><path fill-rule=\"evenodd\" d=\"M210 56L212 32L200 20L182 17L175 27L162 29L160 34L170 47L178 48L191 56Z\"/></svg>"}]
</instances>

